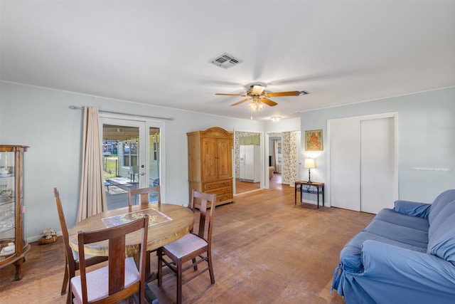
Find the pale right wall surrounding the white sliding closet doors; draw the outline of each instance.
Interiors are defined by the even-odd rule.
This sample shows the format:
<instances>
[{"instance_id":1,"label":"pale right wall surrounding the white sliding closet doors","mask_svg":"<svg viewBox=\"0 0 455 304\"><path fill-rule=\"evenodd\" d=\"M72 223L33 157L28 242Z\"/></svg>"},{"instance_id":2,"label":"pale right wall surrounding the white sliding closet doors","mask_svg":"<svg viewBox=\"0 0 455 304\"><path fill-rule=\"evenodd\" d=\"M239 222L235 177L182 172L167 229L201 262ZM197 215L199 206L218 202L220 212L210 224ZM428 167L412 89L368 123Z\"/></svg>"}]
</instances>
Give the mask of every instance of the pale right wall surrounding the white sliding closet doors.
<instances>
[{"instance_id":1,"label":"pale right wall surrounding the white sliding closet doors","mask_svg":"<svg viewBox=\"0 0 455 304\"><path fill-rule=\"evenodd\" d=\"M432 202L444 190L454 189L455 88L302 112L302 157L305 153L304 131L323 130L323 152L316 156L317 168L311 169L311 179L327 180L327 120L383 112L398 112L400 199ZM412 169L416 167L450 171ZM308 173L302 173L302 176L308 176Z\"/></svg>"}]
</instances>

